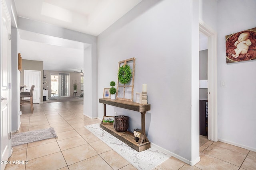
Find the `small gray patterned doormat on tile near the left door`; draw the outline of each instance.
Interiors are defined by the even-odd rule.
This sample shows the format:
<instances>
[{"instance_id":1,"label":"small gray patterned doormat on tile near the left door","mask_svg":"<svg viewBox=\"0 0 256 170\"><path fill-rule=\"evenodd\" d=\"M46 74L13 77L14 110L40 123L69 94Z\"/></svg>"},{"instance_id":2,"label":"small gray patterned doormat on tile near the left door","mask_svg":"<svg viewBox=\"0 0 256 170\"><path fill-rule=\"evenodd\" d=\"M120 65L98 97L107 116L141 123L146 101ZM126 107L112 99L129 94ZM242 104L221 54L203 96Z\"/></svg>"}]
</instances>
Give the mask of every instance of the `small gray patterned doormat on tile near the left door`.
<instances>
[{"instance_id":1,"label":"small gray patterned doormat on tile near the left door","mask_svg":"<svg viewBox=\"0 0 256 170\"><path fill-rule=\"evenodd\" d=\"M54 137L58 137L58 136L56 135L53 127L36 130L36 131L16 133L12 135L12 147L26 144L26 143L41 141L44 139L50 139Z\"/></svg>"}]
</instances>

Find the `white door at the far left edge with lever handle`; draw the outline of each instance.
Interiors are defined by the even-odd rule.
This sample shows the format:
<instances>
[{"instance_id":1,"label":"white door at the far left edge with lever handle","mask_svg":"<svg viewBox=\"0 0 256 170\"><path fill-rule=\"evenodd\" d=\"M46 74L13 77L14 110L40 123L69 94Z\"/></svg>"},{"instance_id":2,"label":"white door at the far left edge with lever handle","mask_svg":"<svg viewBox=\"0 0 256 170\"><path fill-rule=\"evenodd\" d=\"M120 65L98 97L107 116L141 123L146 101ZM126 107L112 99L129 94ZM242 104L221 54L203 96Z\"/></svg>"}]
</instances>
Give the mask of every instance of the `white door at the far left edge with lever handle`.
<instances>
[{"instance_id":1,"label":"white door at the far left edge with lever handle","mask_svg":"<svg viewBox=\"0 0 256 170\"><path fill-rule=\"evenodd\" d=\"M8 160L11 155L11 90L10 90L10 80L11 80L11 41L9 40L9 35L11 33L11 23L10 16L4 0L1 0L1 166L0 169L3 170L5 165L4 162Z\"/></svg>"}]
</instances>

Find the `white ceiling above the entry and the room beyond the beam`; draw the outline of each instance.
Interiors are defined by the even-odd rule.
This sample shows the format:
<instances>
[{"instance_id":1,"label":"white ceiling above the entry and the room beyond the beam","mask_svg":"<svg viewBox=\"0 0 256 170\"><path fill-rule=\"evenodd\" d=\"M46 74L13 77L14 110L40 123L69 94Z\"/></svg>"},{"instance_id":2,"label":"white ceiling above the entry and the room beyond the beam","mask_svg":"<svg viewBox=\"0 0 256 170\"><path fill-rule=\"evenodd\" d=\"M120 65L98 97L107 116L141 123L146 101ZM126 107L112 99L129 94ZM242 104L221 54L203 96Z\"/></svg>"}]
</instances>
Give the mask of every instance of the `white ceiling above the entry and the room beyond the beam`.
<instances>
[{"instance_id":1,"label":"white ceiling above the entry and the room beyond the beam","mask_svg":"<svg viewBox=\"0 0 256 170\"><path fill-rule=\"evenodd\" d=\"M142 0L14 0L17 15L99 35ZM44 70L80 71L87 44L19 30L22 59L44 61Z\"/></svg>"}]
</instances>

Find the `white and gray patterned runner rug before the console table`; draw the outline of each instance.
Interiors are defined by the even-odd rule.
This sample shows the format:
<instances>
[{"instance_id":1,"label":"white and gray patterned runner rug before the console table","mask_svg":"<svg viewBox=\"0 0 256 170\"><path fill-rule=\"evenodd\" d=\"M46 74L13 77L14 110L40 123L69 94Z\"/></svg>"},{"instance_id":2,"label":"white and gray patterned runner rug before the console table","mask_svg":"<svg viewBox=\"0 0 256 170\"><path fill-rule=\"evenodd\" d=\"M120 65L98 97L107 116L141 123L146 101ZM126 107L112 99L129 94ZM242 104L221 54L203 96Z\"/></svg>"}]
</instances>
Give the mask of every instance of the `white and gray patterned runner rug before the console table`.
<instances>
[{"instance_id":1,"label":"white and gray patterned runner rug before the console table","mask_svg":"<svg viewBox=\"0 0 256 170\"><path fill-rule=\"evenodd\" d=\"M166 154L152 146L150 149L137 152L110 133L101 129L99 123L87 125L85 127L137 169L151 170L158 164L171 157L171 155Z\"/></svg>"}]
</instances>

